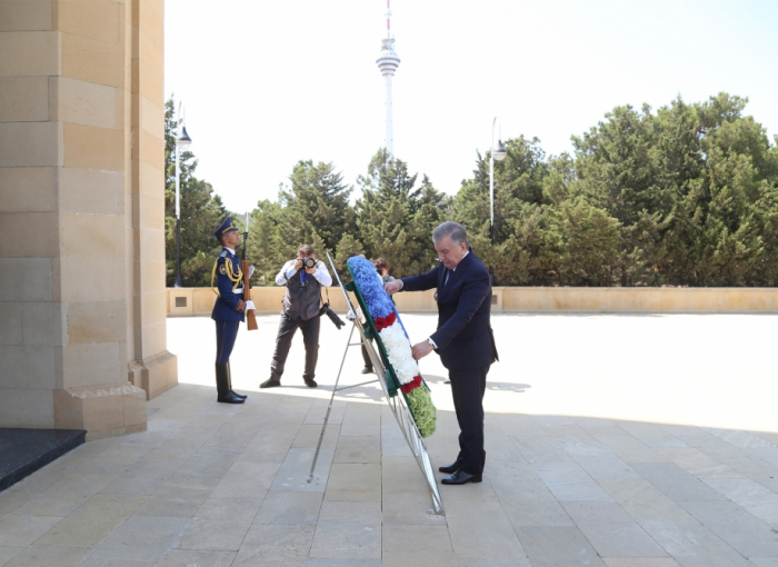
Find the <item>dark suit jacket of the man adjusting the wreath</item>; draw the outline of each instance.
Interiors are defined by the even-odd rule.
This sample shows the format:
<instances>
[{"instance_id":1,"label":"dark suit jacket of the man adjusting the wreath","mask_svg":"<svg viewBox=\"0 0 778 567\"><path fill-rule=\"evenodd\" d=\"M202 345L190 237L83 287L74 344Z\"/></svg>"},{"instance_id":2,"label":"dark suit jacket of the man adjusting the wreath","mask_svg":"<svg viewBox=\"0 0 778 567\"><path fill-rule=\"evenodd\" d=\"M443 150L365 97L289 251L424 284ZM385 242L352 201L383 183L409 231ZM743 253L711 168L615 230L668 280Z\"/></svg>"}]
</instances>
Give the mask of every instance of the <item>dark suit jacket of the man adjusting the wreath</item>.
<instances>
[{"instance_id":1,"label":"dark suit jacket of the man adjusting the wreath","mask_svg":"<svg viewBox=\"0 0 778 567\"><path fill-rule=\"evenodd\" d=\"M438 330L430 337L446 368L483 368L497 360L489 322L491 285L481 260L468 253L446 280L446 266L402 278L402 291L438 289Z\"/></svg>"}]
</instances>

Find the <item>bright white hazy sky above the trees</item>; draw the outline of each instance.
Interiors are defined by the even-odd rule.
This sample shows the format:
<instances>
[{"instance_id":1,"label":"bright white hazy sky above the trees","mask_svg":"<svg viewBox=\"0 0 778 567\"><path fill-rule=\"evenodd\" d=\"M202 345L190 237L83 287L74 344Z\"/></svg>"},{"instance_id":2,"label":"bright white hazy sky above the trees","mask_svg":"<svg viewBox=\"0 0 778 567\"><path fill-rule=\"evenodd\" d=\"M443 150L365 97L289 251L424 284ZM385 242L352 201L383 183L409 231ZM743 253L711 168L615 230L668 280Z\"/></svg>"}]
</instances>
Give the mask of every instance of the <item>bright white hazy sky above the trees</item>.
<instances>
[{"instance_id":1,"label":"bright white hazy sky above the trees","mask_svg":"<svg viewBox=\"0 0 778 567\"><path fill-rule=\"evenodd\" d=\"M538 137L549 155L619 105L726 91L778 133L776 0L392 0L401 63L395 155L456 193L476 151ZM198 177L240 212L298 160L347 182L385 139L376 59L385 0L166 0L166 94L182 100Z\"/></svg>"}]
</instances>

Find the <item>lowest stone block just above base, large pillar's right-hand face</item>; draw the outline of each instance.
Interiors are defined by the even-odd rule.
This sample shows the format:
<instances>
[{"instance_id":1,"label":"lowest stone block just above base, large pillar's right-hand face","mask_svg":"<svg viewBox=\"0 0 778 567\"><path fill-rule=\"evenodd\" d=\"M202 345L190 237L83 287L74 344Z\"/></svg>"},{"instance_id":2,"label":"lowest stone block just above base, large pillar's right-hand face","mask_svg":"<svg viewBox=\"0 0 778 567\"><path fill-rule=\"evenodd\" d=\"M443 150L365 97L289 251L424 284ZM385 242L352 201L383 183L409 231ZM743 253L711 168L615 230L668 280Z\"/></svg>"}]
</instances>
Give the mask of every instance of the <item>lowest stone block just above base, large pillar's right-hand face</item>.
<instances>
[{"instance_id":1,"label":"lowest stone block just above base, large pillar's right-hand face","mask_svg":"<svg viewBox=\"0 0 778 567\"><path fill-rule=\"evenodd\" d=\"M62 347L62 386L83 388L126 380L120 342Z\"/></svg>"}]
</instances>

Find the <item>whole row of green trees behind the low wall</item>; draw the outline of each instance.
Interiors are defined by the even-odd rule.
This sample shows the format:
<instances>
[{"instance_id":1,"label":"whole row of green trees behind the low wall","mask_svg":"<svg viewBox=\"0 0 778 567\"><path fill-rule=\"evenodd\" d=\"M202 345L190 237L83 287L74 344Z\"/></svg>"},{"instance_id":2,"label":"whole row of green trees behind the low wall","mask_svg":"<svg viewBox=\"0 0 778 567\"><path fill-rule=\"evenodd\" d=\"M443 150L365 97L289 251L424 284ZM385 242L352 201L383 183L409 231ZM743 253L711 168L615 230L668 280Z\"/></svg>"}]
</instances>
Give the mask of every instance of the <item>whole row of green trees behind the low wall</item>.
<instances>
[{"instance_id":1,"label":"whole row of green trees behind the low wall","mask_svg":"<svg viewBox=\"0 0 778 567\"><path fill-rule=\"evenodd\" d=\"M255 285L275 276L301 243L332 255L345 275L355 255L383 257L402 277L435 266L432 229L452 219L506 286L778 285L778 148L745 116L747 99L680 98L656 112L617 107L573 137L571 155L547 157L536 138L507 140L495 162L493 243L489 158L455 197L379 150L361 190L332 163L299 161L278 201L251 213ZM172 101L166 115L168 282L174 267ZM210 233L226 210L182 156L181 256L186 285L207 285L218 246ZM238 222L242 220L237 219Z\"/></svg>"}]
</instances>

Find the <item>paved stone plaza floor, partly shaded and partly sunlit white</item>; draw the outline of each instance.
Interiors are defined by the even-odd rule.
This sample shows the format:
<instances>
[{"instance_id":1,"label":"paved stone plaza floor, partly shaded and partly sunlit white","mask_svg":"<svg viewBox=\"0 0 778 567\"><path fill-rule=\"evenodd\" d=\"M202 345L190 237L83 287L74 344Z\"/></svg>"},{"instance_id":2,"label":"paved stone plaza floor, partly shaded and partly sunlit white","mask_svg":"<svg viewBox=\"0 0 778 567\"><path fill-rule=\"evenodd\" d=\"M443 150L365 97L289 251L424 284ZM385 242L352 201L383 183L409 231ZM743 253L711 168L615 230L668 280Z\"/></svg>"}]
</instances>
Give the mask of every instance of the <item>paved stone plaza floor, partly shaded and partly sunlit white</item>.
<instances>
[{"instance_id":1,"label":"paved stone plaza floor, partly shaded and partly sunlit white","mask_svg":"<svg viewBox=\"0 0 778 567\"><path fill-rule=\"evenodd\" d=\"M778 566L775 316L495 316L483 483L430 498L377 385L337 397L348 329L322 321L305 388L295 339L268 377L277 316L241 329L215 402L213 325L169 319L180 385L148 431L90 441L0 493L0 566ZM435 316L407 315L411 338ZM342 384L365 380L351 348ZM457 452L437 357L433 465ZM438 475L442 477L442 475Z\"/></svg>"}]
</instances>

